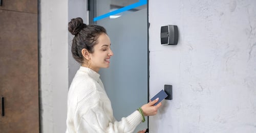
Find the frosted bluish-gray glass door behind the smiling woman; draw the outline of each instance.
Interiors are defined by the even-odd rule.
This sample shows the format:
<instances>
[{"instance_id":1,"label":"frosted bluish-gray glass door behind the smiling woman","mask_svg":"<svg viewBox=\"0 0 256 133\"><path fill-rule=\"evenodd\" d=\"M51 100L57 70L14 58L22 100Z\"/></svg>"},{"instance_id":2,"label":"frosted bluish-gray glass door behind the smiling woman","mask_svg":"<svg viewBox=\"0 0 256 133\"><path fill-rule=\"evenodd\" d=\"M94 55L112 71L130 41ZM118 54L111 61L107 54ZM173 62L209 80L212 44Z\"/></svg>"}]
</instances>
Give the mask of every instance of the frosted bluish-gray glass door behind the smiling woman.
<instances>
[{"instance_id":1,"label":"frosted bluish-gray glass door behind the smiling woman","mask_svg":"<svg viewBox=\"0 0 256 133\"><path fill-rule=\"evenodd\" d=\"M138 2L94 1L97 16L132 5L129 10L119 10L118 14L108 14L94 21L106 29L111 39L114 56L110 68L101 69L99 73L118 121L147 103L148 99L147 8L145 3L136 5ZM135 132L145 128L147 119Z\"/></svg>"}]
</instances>

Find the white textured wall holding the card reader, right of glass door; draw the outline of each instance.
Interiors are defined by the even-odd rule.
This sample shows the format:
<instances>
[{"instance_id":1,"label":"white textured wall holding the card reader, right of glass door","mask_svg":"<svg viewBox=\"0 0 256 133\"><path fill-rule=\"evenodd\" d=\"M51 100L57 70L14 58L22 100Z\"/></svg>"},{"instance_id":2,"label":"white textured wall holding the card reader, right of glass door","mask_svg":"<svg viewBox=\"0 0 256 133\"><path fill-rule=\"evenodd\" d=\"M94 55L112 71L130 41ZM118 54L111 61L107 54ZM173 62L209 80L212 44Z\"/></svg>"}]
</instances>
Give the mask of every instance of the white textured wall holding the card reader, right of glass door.
<instances>
[{"instance_id":1,"label":"white textured wall holding the card reader, right of glass door","mask_svg":"<svg viewBox=\"0 0 256 133\"><path fill-rule=\"evenodd\" d=\"M173 85L150 132L256 132L256 1L149 1L149 21L150 96Z\"/></svg>"}]
</instances>

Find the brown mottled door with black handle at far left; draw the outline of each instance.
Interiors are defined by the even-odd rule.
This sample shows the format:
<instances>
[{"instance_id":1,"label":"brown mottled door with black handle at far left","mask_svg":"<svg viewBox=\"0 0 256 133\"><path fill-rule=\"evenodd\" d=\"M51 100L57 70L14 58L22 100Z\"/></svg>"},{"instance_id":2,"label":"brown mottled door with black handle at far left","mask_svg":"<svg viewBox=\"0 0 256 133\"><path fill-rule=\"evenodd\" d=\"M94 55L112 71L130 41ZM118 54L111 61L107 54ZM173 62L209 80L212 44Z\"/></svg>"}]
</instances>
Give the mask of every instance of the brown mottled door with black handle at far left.
<instances>
[{"instance_id":1,"label":"brown mottled door with black handle at far left","mask_svg":"<svg viewBox=\"0 0 256 133\"><path fill-rule=\"evenodd\" d=\"M26 0L9 4L20 2L31 6ZM35 2L36 13L8 9L5 1L0 7L0 97L4 97L4 109L3 103L0 103L1 133L39 132L37 1Z\"/></svg>"}]
</instances>

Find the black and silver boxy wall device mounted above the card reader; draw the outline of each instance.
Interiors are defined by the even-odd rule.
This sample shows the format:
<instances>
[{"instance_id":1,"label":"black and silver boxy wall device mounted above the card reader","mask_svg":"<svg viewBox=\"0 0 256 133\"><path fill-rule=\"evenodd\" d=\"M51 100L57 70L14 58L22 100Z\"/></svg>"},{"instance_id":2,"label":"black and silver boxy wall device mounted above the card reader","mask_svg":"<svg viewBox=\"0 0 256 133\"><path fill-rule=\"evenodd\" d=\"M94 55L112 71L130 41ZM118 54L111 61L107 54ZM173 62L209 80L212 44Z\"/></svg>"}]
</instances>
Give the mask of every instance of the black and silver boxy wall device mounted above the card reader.
<instances>
[{"instance_id":1,"label":"black and silver boxy wall device mounted above the card reader","mask_svg":"<svg viewBox=\"0 0 256 133\"><path fill-rule=\"evenodd\" d=\"M177 45L178 43L178 26L165 25L161 26L161 44Z\"/></svg>"}]
</instances>

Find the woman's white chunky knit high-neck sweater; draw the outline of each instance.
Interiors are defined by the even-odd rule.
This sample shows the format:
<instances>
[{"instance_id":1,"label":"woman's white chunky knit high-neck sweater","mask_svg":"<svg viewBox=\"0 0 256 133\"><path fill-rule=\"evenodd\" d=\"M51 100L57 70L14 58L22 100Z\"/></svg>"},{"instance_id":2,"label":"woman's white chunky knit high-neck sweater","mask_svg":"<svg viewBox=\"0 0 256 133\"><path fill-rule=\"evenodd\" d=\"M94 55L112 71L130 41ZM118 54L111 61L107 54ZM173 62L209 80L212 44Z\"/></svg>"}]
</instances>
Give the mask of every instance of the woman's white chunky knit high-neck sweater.
<instances>
[{"instance_id":1,"label":"woman's white chunky knit high-neck sweater","mask_svg":"<svg viewBox=\"0 0 256 133\"><path fill-rule=\"evenodd\" d=\"M68 93L66 133L133 132L142 121L138 111L116 121L99 74L87 67L77 71Z\"/></svg>"}]
</instances>

